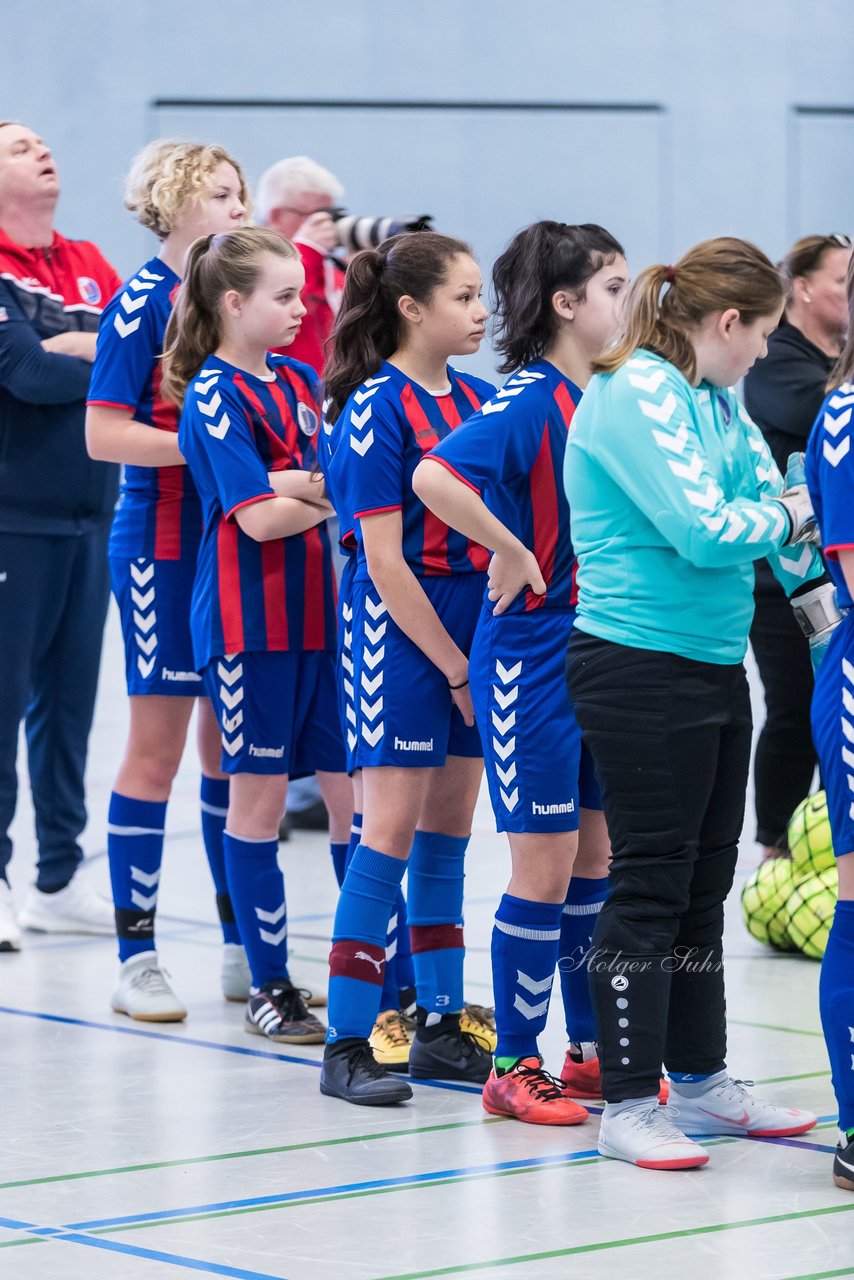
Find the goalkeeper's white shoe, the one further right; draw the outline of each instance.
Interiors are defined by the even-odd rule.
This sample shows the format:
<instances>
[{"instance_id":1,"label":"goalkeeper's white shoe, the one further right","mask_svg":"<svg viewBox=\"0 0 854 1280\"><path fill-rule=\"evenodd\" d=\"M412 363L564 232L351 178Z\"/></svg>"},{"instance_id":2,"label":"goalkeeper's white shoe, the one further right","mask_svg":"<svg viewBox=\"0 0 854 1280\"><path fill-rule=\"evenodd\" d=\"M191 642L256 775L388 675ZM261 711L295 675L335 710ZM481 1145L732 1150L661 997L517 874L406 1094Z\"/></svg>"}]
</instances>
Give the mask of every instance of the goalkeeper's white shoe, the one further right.
<instances>
[{"instance_id":1,"label":"goalkeeper's white shoe, the one further right","mask_svg":"<svg viewBox=\"0 0 854 1280\"><path fill-rule=\"evenodd\" d=\"M679 1085L670 1084L670 1101L665 1107L667 1117L682 1133L736 1134L753 1138L789 1138L805 1133L818 1123L812 1111L778 1107L745 1089L746 1080L726 1076L705 1093L686 1098Z\"/></svg>"}]
</instances>

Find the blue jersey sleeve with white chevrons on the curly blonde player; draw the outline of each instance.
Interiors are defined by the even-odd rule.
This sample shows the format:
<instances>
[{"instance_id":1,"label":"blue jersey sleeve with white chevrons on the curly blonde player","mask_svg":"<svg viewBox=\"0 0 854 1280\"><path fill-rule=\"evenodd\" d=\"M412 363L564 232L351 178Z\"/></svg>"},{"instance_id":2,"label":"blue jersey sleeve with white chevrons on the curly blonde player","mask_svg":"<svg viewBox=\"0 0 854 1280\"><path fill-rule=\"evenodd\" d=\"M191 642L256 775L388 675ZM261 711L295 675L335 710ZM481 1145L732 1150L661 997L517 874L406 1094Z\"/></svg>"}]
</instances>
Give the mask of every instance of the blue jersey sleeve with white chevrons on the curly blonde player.
<instances>
[{"instance_id":1,"label":"blue jersey sleeve with white chevrons on the curly blonde player","mask_svg":"<svg viewBox=\"0 0 854 1280\"><path fill-rule=\"evenodd\" d=\"M123 301L136 305L137 314L125 314ZM146 294L131 300L127 291L119 292L101 316L87 402L136 412L161 344L152 300Z\"/></svg>"}]
</instances>

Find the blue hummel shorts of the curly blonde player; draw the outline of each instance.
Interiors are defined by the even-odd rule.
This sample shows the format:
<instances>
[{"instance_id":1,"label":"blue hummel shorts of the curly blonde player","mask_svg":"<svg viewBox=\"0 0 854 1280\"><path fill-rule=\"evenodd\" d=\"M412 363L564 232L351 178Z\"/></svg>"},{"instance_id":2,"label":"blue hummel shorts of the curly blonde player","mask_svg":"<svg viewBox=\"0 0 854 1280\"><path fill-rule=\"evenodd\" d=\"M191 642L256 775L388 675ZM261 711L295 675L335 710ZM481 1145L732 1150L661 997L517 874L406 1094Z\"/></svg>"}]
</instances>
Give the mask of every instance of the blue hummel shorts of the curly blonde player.
<instances>
[{"instance_id":1,"label":"blue hummel shorts of the curly blonde player","mask_svg":"<svg viewBox=\"0 0 854 1280\"><path fill-rule=\"evenodd\" d=\"M128 694L196 698L204 692L189 635L195 559L110 556L113 594L122 618Z\"/></svg>"}]
</instances>

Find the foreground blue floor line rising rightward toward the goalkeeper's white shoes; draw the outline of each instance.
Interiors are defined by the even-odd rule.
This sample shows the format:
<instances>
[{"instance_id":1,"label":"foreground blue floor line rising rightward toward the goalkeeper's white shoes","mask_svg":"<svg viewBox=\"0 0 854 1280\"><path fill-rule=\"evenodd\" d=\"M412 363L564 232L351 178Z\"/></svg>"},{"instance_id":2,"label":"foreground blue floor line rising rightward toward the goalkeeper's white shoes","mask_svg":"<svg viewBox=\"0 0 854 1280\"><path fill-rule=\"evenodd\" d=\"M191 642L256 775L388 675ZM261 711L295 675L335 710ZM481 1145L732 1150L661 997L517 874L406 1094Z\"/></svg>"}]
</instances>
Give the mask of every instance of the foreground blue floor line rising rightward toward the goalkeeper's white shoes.
<instances>
[{"instance_id":1,"label":"foreground blue floor line rising rightward toward the goalkeeper's white shoes","mask_svg":"<svg viewBox=\"0 0 854 1280\"><path fill-rule=\"evenodd\" d=\"M96 1228L113 1228L120 1230L134 1222L159 1222L164 1219L191 1217L197 1213L222 1213L229 1210L252 1208L259 1204L287 1204L293 1201L311 1199L321 1196L347 1196L353 1192L378 1190L387 1187L419 1187L435 1181L447 1181L449 1178L483 1178L488 1174L507 1172L516 1169L548 1169L552 1166L570 1165L576 1160L590 1160L599 1152L595 1147L589 1151L574 1151L557 1156L531 1156L529 1160L506 1160L488 1165L467 1165L461 1169L440 1169L431 1174L406 1174L401 1178L376 1178L361 1183L341 1183L332 1187L312 1187L298 1192L280 1192L273 1196L251 1196L246 1199L219 1201L211 1204L192 1204L187 1208L159 1210L154 1213L133 1213L123 1217L92 1219L86 1222L68 1222L64 1230L92 1231Z\"/></svg>"}]
</instances>

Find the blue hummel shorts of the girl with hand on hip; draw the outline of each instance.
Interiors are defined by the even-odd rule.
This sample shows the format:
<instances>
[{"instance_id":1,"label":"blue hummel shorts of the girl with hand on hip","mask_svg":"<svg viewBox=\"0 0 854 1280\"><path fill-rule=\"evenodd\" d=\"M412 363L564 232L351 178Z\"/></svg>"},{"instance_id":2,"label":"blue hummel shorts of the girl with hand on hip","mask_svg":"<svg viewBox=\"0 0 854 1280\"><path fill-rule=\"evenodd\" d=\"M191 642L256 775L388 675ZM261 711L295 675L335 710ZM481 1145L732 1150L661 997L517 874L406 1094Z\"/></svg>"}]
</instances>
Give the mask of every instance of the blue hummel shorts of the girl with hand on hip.
<instances>
[{"instance_id":1,"label":"blue hummel shorts of the girl with hand on hip","mask_svg":"<svg viewBox=\"0 0 854 1280\"><path fill-rule=\"evenodd\" d=\"M469 680L498 831L577 831L579 808L602 809L566 691L572 621L557 609L480 614Z\"/></svg>"}]
</instances>

